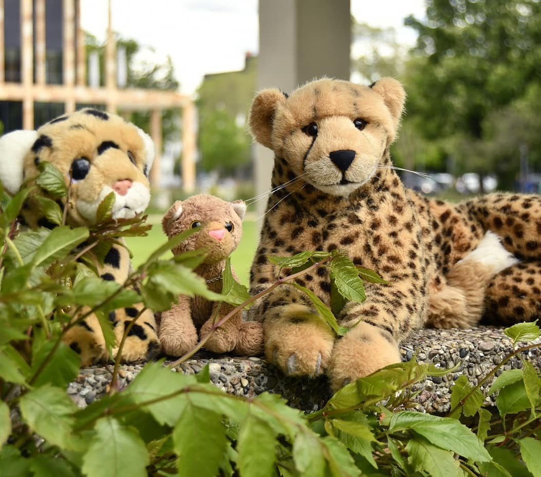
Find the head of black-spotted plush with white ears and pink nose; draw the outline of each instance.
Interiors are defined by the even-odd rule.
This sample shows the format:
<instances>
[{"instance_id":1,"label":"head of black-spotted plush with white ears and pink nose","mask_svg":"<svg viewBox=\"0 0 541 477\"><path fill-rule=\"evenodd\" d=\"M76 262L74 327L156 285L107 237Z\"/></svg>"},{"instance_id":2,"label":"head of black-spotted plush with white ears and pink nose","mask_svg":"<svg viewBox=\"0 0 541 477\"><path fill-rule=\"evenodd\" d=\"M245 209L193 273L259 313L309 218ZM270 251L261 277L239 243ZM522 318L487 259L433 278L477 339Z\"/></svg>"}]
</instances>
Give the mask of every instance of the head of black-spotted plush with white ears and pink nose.
<instances>
[{"instance_id":1,"label":"head of black-spotted plush with white ears and pink nose","mask_svg":"<svg viewBox=\"0 0 541 477\"><path fill-rule=\"evenodd\" d=\"M14 131L0 139L0 181L4 188L15 194L26 179L38 175L40 162L54 164L66 184L71 183L67 205L72 224L94 224L98 205L111 192L115 194L115 219L132 218L146 209L153 160L154 145L147 134L116 114L96 109L82 109L60 116L37 131ZM30 222L32 210L36 214L34 205L30 199L24 214L25 219L30 216ZM38 220L29 225L43 223Z\"/></svg>"}]
</instances>

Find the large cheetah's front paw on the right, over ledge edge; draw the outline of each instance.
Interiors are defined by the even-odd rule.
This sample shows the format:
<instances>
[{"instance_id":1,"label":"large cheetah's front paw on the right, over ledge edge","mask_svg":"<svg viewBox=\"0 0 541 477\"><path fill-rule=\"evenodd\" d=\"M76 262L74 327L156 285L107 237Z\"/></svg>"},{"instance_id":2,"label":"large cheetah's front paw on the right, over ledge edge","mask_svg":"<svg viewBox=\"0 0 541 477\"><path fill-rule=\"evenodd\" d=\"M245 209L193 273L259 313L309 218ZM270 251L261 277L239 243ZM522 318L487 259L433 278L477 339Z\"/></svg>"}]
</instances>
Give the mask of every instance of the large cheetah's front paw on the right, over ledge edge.
<instances>
[{"instance_id":1,"label":"large cheetah's front paw on the right, over ledge edge","mask_svg":"<svg viewBox=\"0 0 541 477\"><path fill-rule=\"evenodd\" d=\"M361 322L334 345L328 375L336 391L355 379L400 361L398 345L391 334Z\"/></svg>"}]
</instances>

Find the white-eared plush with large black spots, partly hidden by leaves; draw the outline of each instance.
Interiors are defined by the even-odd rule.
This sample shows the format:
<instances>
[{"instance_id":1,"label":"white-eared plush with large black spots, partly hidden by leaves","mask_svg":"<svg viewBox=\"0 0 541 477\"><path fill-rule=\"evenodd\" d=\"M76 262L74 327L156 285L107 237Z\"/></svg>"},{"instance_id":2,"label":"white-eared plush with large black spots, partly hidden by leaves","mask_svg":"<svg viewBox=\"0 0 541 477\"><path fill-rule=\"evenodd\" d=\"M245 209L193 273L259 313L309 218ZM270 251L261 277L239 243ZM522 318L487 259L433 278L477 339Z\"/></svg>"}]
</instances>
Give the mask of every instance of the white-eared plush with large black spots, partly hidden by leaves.
<instances>
[{"instance_id":1,"label":"white-eared plush with large black spots, partly hidden by leaves","mask_svg":"<svg viewBox=\"0 0 541 477\"><path fill-rule=\"evenodd\" d=\"M38 128L37 131L14 131L0 138L0 181L4 189L15 194L25 179L38 175L38 165L48 161L55 165L69 184L68 225L93 225L102 200L114 192L112 216L133 218L146 209L150 200L148 172L154 160L150 137L115 114L97 109L82 109L65 114ZM56 225L39 214L36 199L27 199L19 218L24 227L53 228ZM114 245L105 256L104 265L96 263L104 280L123 283L129 273L129 252ZM141 306L123 308L109 314L117 343L124 325L139 313ZM101 327L94 315L80 326L71 328L65 341L81 353L82 364L107 359L108 352ZM149 359L160 349L154 315L146 310L131 328L122 350L122 360ZM116 354L116 350L113 350Z\"/></svg>"}]
</instances>

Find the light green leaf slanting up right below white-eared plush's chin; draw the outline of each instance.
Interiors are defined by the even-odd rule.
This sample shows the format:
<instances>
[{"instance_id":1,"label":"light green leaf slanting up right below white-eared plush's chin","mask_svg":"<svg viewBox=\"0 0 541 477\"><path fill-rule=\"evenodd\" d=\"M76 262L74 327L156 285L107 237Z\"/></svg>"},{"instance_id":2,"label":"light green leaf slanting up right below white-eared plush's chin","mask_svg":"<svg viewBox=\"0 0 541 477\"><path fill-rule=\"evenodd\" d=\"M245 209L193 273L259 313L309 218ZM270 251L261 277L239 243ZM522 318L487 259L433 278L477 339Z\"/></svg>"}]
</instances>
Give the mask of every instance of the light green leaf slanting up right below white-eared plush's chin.
<instances>
[{"instance_id":1,"label":"light green leaf slanting up right below white-eared plush's chin","mask_svg":"<svg viewBox=\"0 0 541 477\"><path fill-rule=\"evenodd\" d=\"M60 225L51 230L34 255L35 266L48 267L51 263L63 259L66 254L88 239L88 229L78 227L72 229L68 225Z\"/></svg>"}]
</instances>

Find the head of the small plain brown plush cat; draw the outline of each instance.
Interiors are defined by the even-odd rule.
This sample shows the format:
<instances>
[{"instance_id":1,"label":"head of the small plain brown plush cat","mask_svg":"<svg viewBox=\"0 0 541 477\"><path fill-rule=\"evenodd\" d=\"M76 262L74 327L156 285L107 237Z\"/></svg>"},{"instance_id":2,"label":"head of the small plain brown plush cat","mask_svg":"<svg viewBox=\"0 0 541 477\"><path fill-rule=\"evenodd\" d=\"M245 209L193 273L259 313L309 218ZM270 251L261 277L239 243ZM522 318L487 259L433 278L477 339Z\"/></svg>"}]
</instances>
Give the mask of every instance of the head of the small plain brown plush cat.
<instances>
[{"instance_id":1,"label":"head of the small plain brown plush cat","mask_svg":"<svg viewBox=\"0 0 541 477\"><path fill-rule=\"evenodd\" d=\"M246 204L242 201L226 202L210 195L195 195L176 201L163 216L162 227L171 238L190 228L201 230L184 240L173 253L204 248L205 263L225 260L237 247L242 237L242 219Z\"/></svg>"}]
</instances>

